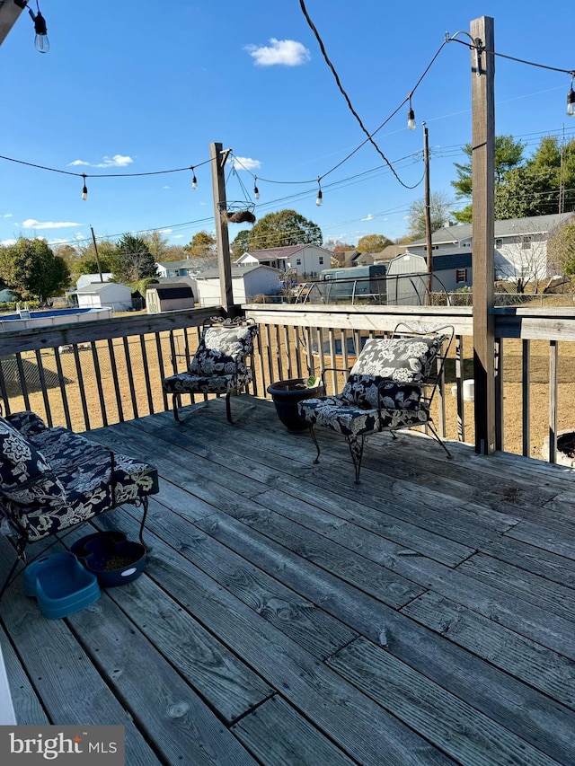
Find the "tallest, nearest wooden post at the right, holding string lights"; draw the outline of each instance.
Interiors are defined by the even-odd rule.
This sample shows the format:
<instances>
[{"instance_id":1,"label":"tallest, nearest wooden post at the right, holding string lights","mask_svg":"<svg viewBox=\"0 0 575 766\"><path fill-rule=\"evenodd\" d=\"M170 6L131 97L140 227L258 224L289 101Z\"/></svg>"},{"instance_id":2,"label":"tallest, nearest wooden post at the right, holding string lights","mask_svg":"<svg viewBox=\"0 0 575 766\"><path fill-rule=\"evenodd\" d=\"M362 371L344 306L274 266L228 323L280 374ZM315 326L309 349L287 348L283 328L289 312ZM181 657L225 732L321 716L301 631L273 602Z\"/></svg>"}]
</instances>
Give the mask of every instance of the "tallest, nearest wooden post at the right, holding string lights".
<instances>
[{"instance_id":1,"label":"tallest, nearest wooden post at the right, holding string lights","mask_svg":"<svg viewBox=\"0 0 575 766\"><path fill-rule=\"evenodd\" d=\"M472 172L473 172L473 378L475 381L475 452L495 452L494 369L494 193L495 57L493 19L471 22Z\"/></svg>"}]
</instances>

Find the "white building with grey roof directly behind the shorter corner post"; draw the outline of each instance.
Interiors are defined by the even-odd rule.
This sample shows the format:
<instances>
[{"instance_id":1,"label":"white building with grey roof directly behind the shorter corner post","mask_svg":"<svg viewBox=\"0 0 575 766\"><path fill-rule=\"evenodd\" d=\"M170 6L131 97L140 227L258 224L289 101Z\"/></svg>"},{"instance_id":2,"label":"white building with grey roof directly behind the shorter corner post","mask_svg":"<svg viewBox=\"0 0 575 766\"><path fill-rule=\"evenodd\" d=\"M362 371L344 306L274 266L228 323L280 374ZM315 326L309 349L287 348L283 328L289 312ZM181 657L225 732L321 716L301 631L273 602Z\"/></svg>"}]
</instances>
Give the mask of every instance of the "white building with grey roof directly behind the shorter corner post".
<instances>
[{"instance_id":1,"label":"white building with grey roof directly behind the shorter corner post","mask_svg":"<svg viewBox=\"0 0 575 766\"><path fill-rule=\"evenodd\" d=\"M279 269L269 266L232 267L232 291L234 304L248 304L255 295L278 295ZM219 272L217 269L202 271L196 277L199 305L210 306L221 303Z\"/></svg>"}]
</instances>

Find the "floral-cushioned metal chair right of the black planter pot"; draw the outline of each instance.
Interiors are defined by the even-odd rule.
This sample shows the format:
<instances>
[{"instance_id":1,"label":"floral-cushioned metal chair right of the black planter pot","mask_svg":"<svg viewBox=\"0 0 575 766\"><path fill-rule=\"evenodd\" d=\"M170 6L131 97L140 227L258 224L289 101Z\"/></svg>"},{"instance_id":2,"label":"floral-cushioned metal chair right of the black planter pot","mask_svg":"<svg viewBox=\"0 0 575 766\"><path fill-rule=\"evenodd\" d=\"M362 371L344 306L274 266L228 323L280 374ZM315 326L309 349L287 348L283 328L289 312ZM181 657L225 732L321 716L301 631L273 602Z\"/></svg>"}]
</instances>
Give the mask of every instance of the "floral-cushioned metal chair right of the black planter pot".
<instances>
[{"instance_id":1,"label":"floral-cushioned metal chair right of the black planter pot","mask_svg":"<svg viewBox=\"0 0 575 766\"><path fill-rule=\"evenodd\" d=\"M451 457L432 424L430 407L442 379L447 352L454 336L451 325L411 326L400 323L392 338L368 338L349 371L341 393L307 399L298 405L309 423L319 462L320 446L315 426L345 436L359 481L364 437L378 431L427 426ZM323 371L346 372L345 370Z\"/></svg>"}]
</instances>

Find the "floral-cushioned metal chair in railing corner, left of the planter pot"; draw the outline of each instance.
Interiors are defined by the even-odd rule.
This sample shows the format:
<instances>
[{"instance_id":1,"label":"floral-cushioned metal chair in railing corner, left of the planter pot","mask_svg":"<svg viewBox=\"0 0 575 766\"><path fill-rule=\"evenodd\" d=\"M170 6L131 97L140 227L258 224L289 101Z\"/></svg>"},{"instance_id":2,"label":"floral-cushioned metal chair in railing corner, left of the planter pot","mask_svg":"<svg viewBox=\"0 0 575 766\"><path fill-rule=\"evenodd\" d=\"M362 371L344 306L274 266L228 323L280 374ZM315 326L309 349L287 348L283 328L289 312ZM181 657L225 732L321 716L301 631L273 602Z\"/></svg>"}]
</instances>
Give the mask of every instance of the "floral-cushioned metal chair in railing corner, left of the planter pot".
<instances>
[{"instance_id":1,"label":"floral-cushioned metal chair in railing corner, left of the planter pot","mask_svg":"<svg viewBox=\"0 0 575 766\"><path fill-rule=\"evenodd\" d=\"M252 383L253 373L250 357L258 334L258 326L252 319L242 317L231 320L211 317L203 324L198 350L184 373L164 378L164 392L173 396L173 417L181 418L181 394L226 394L226 417L233 425L230 397Z\"/></svg>"}]
</instances>

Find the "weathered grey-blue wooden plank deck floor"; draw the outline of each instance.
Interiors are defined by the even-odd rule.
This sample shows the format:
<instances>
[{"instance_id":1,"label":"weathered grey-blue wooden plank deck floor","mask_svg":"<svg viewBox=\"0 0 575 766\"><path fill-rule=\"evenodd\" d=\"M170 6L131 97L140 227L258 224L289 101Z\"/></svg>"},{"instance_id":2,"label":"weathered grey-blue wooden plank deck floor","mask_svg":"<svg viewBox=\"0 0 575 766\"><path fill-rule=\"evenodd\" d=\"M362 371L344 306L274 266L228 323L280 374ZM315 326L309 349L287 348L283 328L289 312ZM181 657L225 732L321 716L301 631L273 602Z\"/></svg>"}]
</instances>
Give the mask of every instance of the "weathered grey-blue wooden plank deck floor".
<instances>
[{"instance_id":1,"label":"weathered grey-blue wooden plank deck floor","mask_svg":"<svg viewBox=\"0 0 575 766\"><path fill-rule=\"evenodd\" d=\"M158 466L146 573L59 621L13 583L19 723L124 725L128 766L575 764L573 471L381 435L356 486L269 401L192 409L89 434Z\"/></svg>"}]
</instances>

